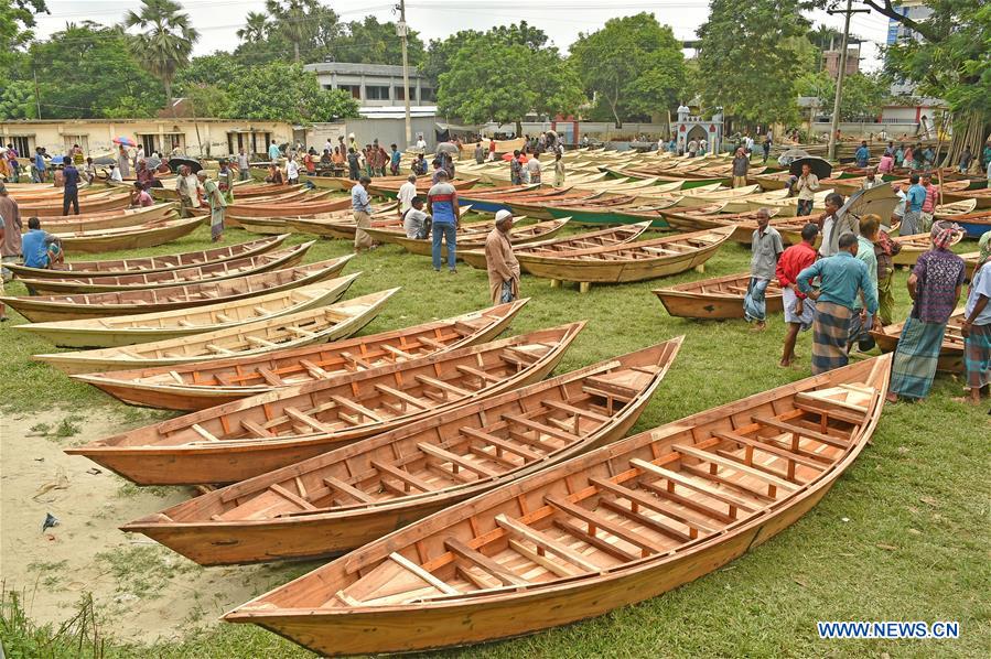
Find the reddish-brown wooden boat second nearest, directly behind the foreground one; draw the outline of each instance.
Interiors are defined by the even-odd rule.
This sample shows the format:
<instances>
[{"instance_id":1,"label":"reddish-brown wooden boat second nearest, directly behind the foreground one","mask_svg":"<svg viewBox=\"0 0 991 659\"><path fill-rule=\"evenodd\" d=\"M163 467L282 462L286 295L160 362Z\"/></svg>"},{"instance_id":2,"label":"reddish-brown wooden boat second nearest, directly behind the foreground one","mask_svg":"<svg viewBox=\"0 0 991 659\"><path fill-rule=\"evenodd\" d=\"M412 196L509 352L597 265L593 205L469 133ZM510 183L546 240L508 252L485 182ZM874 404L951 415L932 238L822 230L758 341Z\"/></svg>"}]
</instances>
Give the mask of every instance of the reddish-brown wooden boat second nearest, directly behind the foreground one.
<instances>
[{"instance_id":1,"label":"reddish-brown wooden boat second nearest, directly behind the foreground one","mask_svg":"<svg viewBox=\"0 0 991 659\"><path fill-rule=\"evenodd\" d=\"M623 437L659 387L682 338L269 472L122 530L144 533L201 565L354 549Z\"/></svg>"}]
</instances>

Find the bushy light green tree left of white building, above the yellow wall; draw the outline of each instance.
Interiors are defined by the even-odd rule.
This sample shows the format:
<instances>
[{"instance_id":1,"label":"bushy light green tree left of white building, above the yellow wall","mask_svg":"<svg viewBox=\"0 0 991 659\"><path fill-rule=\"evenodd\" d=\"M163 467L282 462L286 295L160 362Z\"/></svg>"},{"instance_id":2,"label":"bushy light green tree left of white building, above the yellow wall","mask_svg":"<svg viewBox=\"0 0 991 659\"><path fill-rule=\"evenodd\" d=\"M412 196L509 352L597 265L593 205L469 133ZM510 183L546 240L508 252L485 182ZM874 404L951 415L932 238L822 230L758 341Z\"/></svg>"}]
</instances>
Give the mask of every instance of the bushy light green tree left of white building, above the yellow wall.
<instances>
[{"instance_id":1,"label":"bushy light green tree left of white building, above the yellow wall","mask_svg":"<svg viewBox=\"0 0 991 659\"><path fill-rule=\"evenodd\" d=\"M228 91L226 116L290 123L333 121L358 114L358 102L340 89L323 89L300 64L252 66Z\"/></svg>"}]
</instances>

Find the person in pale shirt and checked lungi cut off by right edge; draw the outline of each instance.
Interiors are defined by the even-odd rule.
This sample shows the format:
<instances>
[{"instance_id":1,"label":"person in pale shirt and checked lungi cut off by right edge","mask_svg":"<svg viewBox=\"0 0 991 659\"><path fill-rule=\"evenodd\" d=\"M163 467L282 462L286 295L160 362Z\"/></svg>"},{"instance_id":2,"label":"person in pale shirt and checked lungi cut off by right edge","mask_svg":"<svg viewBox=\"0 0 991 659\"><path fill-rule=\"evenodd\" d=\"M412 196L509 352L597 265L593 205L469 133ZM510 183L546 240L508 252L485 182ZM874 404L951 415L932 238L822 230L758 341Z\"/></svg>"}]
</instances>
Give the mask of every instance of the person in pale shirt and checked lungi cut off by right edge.
<instances>
[{"instance_id":1,"label":"person in pale shirt and checked lungi cut off by right edge","mask_svg":"<svg viewBox=\"0 0 991 659\"><path fill-rule=\"evenodd\" d=\"M981 391L991 387L991 231L981 236L980 246L962 327L967 387L974 404L981 402Z\"/></svg>"}]
</instances>

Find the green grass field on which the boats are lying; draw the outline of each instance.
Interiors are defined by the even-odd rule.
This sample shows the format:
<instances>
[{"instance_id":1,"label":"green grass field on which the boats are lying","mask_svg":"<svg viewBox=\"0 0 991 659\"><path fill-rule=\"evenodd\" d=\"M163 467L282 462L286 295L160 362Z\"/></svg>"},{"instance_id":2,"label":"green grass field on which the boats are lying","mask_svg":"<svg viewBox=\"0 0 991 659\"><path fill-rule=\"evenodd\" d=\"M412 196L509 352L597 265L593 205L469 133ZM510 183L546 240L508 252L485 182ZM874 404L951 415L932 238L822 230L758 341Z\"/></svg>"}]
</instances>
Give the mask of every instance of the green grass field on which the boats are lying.
<instances>
[{"instance_id":1,"label":"green grass field on which the boats are lying","mask_svg":"<svg viewBox=\"0 0 991 659\"><path fill-rule=\"evenodd\" d=\"M227 233L228 242L249 239ZM293 236L290 244L306 239ZM147 253L208 247L206 228ZM972 249L972 244L966 246ZM321 240L306 259L349 251ZM125 255L106 255L106 258ZM127 256L136 256L129 253ZM101 258L104 258L101 256ZM747 250L726 245L705 277L744 271ZM433 272L429 259L386 246L354 259L345 272L363 271L351 295L402 287L366 333L445 317L487 305L484 272L462 266L457 274ZM663 284L699 279L688 272ZM906 273L896 276L901 320L907 312ZM551 289L524 277L531 302L511 332L586 318L589 325L558 372L677 335L685 346L635 430L644 430L809 375L808 334L799 341L801 368L777 367L784 333L780 316L753 333L742 321L702 323L668 316L650 293L659 281L617 287ZM21 284L8 294L23 294ZM0 401L4 414L51 409L110 409L121 422L160 413L117 403L75 383L30 355L52 346L0 326ZM991 650L991 423L987 408L955 398L961 383L940 376L929 400L885 408L880 428L854 466L826 499L795 527L744 558L661 597L531 637L452 650L451 657L726 657L726 656L988 656ZM3 561L17 561L4 555ZM279 566L286 580L310 564ZM74 626L57 635L23 617L6 593L0 635L10 657L93 656L93 620L106 657L306 657L297 646L260 628L219 625L181 642L133 646L115 639L114 620L98 606L80 606ZM823 641L817 620L959 620L961 637L948 641ZM86 640L88 638L89 640ZM82 645L79 645L82 644ZM83 648L80 651L79 648Z\"/></svg>"}]
</instances>

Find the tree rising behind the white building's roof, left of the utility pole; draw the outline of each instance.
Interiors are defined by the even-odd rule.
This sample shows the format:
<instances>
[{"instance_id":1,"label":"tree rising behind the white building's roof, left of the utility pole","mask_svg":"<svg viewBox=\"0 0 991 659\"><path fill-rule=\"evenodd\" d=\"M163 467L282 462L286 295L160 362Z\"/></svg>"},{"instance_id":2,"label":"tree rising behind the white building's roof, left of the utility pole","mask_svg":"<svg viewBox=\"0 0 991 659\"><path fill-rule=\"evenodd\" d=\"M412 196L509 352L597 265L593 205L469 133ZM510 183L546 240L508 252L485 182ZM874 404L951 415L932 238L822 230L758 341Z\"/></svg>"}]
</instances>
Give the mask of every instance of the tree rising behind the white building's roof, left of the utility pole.
<instances>
[{"instance_id":1,"label":"tree rising behind the white building's roof, left of the utility pole","mask_svg":"<svg viewBox=\"0 0 991 659\"><path fill-rule=\"evenodd\" d=\"M419 33L410 30L407 39L410 66L417 66L424 58L423 41ZM363 21L351 21L344 25L340 36L328 40L320 60L332 56L337 62L360 64L402 64L402 44L396 36L396 23L379 23L375 17Z\"/></svg>"}]
</instances>

